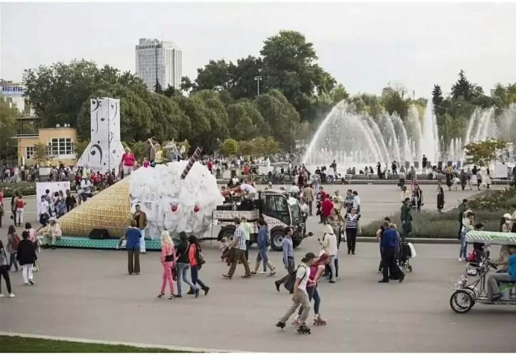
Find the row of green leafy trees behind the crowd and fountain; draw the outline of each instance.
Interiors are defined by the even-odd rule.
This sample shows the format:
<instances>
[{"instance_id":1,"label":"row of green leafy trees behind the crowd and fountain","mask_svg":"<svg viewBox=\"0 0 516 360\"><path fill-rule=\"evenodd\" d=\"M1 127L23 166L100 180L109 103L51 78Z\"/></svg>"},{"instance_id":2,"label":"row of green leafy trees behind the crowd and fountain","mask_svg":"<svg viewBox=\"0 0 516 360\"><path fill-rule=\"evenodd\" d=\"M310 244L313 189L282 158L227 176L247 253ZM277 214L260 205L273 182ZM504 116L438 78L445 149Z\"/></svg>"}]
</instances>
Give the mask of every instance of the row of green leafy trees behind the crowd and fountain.
<instances>
[{"instance_id":1,"label":"row of green leafy trees behind the crowd and fountain","mask_svg":"<svg viewBox=\"0 0 516 360\"><path fill-rule=\"evenodd\" d=\"M197 70L195 79L183 77L181 89L156 84L155 91L149 91L130 72L121 73L108 65L99 68L85 60L28 69L24 82L43 126L68 123L77 128L80 139L88 140L89 99L116 97L126 143L150 136L162 142L188 139L192 147L203 146L206 152L221 149L227 138L238 142L259 137L272 137L280 148L293 151L296 140L309 139L331 108L343 100L375 119L385 110L398 113L403 121L411 105L421 114L427 105L426 99L406 99L404 90L391 87L381 95L349 96L316 61L313 44L299 32L285 30L264 41L259 57L211 60ZM449 96L439 85L432 92L440 134L446 141L463 135L476 107L496 105L502 111L513 102L516 84L498 86L493 96L487 96L463 71ZM2 126L11 125L2 120Z\"/></svg>"}]
</instances>

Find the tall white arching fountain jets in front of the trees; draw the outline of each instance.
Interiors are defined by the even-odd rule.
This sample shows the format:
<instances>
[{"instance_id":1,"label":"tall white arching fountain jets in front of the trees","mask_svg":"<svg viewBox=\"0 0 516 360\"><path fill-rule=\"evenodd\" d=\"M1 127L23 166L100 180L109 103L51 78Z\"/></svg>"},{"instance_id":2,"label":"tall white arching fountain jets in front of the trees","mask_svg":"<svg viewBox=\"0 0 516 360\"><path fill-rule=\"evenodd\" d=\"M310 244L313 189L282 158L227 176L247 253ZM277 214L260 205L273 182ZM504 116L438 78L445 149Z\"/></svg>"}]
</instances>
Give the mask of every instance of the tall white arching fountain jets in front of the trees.
<instances>
[{"instance_id":1,"label":"tall white arching fountain jets in front of the trees","mask_svg":"<svg viewBox=\"0 0 516 360\"><path fill-rule=\"evenodd\" d=\"M404 121L398 114L390 115L385 111L373 119L342 101L322 121L303 156L303 162L315 167L329 165L335 160L338 171L344 173L348 167L363 169L365 165L374 166L377 162L382 167L394 160L405 165L407 161L421 161L423 154L432 165L437 165L441 159L463 161L463 146L470 142L497 138L501 134L504 140L512 141L516 138L516 127L512 126L515 122L516 104L509 106L496 121L494 107L477 108L465 136L451 138L445 144L444 136L438 134L432 106L426 106L422 126L414 105L410 106ZM514 134L512 138L511 134ZM509 157L512 159L512 154Z\"/></svg>"}]
</instances>

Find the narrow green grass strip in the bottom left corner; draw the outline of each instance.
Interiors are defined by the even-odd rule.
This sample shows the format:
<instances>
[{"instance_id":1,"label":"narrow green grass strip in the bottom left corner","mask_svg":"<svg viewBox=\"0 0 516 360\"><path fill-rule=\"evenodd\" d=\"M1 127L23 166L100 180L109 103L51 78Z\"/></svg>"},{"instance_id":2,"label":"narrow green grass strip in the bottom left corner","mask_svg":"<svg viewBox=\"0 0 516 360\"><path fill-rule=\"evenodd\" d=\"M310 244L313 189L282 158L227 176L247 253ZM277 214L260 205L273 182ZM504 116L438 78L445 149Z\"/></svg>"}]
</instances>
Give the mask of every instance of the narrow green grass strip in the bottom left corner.
<instances>
[{"instance_id":1,"label":"narrow green grass strip in the bottom left corner","mask_svg":"<svg viewBox=\"0 0 516 360\"><path fill-rule=\"evenodd\" d=\"M108 353L122 353L122 352L140 352L140 353L157 353L157 352L188 352L176 351L160 348L137 348L134 346L125 345L106 345L102 343L87 343L76 341L63 340L47 340L37 339L21 336L0 336L0 352L42 352L42 353L60 353L60 352L108 352Z\"/></svg>"}]
</instances>

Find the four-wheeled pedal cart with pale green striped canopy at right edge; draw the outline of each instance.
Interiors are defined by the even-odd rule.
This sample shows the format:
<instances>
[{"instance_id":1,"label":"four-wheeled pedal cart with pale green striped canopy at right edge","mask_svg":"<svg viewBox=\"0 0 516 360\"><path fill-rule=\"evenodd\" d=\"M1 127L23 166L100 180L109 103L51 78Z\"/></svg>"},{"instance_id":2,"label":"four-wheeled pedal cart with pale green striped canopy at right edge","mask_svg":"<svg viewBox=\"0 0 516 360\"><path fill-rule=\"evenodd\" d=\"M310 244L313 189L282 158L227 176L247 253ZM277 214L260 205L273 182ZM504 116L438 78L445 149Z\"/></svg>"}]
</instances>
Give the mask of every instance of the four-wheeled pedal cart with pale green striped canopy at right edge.
<instances>
[{"instance_id":1,"label":"four-wheeled pedal cart with pale green striped canopy at right edge","mask_svg":"<svg viewBox=\"0 0 516 360\"><path fill-rule=\"evenodd\" d=\"M499 233L490 231L470 231L466 234L467 243L483 243L486 247L497 244L506 246L516 246L516 233ZM488 276L489 270L496 270L497 265L486 257L483 252L478 263L468 264L465 273L460 281L455 285L455 291L450 297L450 307L454 312L464 314L476 303L485 305L516 305L516 281L500 282L499 287L502 297L493 300L488 296ZM491 274L494 272L491 272ZM474 277L474 281L469 281L469 277Z\"/></svg>"}]
</instances>

